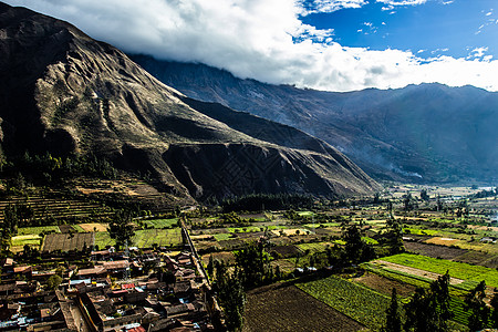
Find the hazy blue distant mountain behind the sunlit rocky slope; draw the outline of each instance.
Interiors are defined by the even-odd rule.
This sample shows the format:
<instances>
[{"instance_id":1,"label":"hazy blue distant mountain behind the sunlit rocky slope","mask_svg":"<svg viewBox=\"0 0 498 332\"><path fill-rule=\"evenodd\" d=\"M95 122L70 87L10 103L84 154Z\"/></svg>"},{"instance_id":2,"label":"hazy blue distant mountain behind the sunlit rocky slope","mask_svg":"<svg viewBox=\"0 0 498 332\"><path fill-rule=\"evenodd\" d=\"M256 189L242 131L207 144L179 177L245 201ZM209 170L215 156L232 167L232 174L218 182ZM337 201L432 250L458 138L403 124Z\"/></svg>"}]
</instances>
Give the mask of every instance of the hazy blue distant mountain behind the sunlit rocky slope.
<instances>
[{"instance_id":1,"label":"hazy blue distant mountain behind the sunlit rocky slope","mask_svg":"<svg viewBox=\"0 0 498 332\"><path fill-rule=\"evenodd\" d=\"M498 93L440 84L322 92L241 80L204 64L132 59L190 97L319 137L377 179L497 179Z\"/></svg>"}]
</instances>

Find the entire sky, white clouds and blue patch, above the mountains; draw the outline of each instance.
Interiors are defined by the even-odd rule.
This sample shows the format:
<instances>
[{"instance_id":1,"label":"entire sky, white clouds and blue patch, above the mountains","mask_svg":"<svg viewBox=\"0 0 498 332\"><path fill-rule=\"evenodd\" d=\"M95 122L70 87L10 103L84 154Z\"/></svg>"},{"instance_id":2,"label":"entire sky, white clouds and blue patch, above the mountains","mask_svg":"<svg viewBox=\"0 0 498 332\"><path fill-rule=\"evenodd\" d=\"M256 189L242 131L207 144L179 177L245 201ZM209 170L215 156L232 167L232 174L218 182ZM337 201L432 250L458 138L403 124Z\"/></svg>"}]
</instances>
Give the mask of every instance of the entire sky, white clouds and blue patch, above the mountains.
<instances>
[{"instance_id":1,"label":"entire sky, white clouds and blue patch, above the mountains","mask_svg":"<svg viewBox=\"0 0 498 332\"><path fill-rule=\"evenodd\" d=\"M498 91L496 0L3 0L131 53L328 91Z\"/></svg>"}]
</instances>

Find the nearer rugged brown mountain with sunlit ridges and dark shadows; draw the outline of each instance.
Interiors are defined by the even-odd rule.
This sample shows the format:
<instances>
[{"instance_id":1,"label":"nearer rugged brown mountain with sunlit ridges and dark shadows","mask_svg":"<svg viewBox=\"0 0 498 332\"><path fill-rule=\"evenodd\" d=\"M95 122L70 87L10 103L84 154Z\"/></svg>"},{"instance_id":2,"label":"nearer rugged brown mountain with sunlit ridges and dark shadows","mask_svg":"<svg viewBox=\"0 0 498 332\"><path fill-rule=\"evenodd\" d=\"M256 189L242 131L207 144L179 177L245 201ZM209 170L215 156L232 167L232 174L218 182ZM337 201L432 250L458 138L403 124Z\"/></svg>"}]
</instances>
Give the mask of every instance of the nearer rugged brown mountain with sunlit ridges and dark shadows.
<instances>
[{"instance_id":1,"label":"nearer rugged brown mountain with sunlit ridges and dark shadows","mask_svg":"<svg viewBox=\"0 0 498 332\"><path fill-rule=\"evenodd\" d=\"M380 186L295 128L187 97L73 25L0 3L1 147L7 157L95 155L151 172L167 195L325 197Z\"/></svg>"}]
</instances>

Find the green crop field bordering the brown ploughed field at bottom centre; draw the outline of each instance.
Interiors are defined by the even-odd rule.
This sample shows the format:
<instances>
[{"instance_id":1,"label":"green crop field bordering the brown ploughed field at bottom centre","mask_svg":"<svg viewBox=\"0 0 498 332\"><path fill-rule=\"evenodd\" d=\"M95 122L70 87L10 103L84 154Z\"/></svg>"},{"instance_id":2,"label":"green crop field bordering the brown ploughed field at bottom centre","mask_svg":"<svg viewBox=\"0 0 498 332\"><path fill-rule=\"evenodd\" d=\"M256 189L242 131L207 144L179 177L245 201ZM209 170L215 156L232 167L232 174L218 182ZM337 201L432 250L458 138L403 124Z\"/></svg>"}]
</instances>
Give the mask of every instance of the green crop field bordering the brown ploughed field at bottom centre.
<instances>
[{"instance_id":1,"label":"green crop field bordering the brown ploughed field at bottom centre","mask_svg":"<svg viewBox=\"0 0 498 332\"><path fill-rule=\"evenodd\" d=\"M369 288L334 276L297 287L373 330L382 328L391 301Z\"/></svg>"}]
</instances>

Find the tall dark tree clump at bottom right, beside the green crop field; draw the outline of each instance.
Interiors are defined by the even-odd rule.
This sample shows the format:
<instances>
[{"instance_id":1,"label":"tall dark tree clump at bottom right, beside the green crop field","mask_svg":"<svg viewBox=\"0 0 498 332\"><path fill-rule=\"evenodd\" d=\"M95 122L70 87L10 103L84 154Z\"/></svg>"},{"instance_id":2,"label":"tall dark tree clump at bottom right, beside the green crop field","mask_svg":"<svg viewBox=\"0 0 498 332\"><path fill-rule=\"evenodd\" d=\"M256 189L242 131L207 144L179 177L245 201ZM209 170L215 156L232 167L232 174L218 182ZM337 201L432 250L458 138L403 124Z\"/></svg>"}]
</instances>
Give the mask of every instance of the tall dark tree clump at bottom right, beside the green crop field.
<instances>
[{"instance_id":1,"label":"tall dark tree clump at bottom right, beside the green crop field","mask_svg":"<svg viewBox=\"0 0 498 332\"><path fill-rule=\"evenodd\" d=\"M405 305L406 331L448 331L449 311L449 273L446 272L430 283L428 290L417 288L412 300Z\"/></svg>"}]
</instances>

